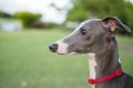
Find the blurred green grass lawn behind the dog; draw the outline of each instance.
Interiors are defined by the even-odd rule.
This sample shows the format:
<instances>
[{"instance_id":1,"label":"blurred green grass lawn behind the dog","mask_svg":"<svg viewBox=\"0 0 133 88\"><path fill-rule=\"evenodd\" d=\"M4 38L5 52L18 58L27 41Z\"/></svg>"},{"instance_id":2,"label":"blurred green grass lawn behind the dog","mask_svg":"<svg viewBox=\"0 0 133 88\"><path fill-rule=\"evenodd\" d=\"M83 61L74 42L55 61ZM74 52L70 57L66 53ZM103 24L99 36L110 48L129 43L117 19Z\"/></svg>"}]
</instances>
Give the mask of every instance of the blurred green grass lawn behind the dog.
<instances>
[{"instance_id":1,"label":"blurred green grass lawn behind the dog","mask_svg":"<svg viewBox=\"0 0 133 88\"><path fill-rule=\"evenodd\" d=\"M0 32L0 88L89 88L88 56L60 56L49 44L62 31ZM124 70L133 75L133 38L117 36Z\"/></svg>"}]
</instances>

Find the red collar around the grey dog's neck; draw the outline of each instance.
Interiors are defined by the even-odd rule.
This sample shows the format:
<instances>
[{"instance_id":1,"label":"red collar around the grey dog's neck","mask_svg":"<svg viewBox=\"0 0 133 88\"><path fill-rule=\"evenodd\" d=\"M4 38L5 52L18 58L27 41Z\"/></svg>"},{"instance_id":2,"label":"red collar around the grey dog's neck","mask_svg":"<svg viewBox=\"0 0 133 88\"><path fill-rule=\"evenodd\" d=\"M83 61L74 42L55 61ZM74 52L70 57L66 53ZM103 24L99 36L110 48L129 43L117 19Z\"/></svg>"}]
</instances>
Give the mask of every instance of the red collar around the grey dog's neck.
<instances>
[{"instance_id":1,"label":"red collar around the grey dog's neck","mask_svg":"<svg viewBox=\"0 0 133 88\"><path fill-rule=\"evenodd\" d=\"M111 73L111 74L109 74L104 77L101 77L101 78L98 78L98 79L89 78L88 80L89 80L89 84L94 85L94 84L101 84L103 81L110 80L110 79L119 77L121 75L122 75L122 69L119 68L114 73Z\"/></svg>"}]
</instances>

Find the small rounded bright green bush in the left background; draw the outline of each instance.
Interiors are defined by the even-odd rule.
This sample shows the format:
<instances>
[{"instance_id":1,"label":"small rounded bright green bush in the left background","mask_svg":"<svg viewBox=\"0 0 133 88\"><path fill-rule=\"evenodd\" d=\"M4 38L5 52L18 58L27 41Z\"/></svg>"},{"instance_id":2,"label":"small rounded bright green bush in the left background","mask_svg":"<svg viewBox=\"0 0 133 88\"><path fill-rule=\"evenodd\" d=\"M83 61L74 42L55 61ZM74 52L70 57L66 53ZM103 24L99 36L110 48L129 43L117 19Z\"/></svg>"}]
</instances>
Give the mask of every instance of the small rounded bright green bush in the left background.
<instances>
[{"instance_id":1,"label":"small rounded bright green bush in the left background","mask_svg":"<svg viewBox=\"0 0 133 88\"><path fill-rule=\"evenodd\" d=\"M40 13L31 13L28 11L17 12L13 15L22 21L24 28L31 26L33 22L39 21L41 18Z\"/></svg>"}]
</instances>

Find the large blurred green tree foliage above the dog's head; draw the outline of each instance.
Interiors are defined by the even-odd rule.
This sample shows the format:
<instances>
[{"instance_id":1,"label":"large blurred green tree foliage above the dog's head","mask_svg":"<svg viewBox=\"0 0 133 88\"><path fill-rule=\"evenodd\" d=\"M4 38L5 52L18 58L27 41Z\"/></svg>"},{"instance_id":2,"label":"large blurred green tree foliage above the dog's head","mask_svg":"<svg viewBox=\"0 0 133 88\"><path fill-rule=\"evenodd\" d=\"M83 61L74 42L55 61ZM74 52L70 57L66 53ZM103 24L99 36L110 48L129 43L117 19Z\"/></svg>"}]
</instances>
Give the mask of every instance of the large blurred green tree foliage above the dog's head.
<instances>
[{"instance_id":1,"label":"large blurred green tree foliage above the dog's head","mask_svg":"<svg viewBox=\"0 0 133 88\"><path fill-rule=\"evenodd\" d=\"M74 0L66 21L83 21L90 16L115 15L133 28L133 3L125 0Z\"/></svg>"}]
</instances>

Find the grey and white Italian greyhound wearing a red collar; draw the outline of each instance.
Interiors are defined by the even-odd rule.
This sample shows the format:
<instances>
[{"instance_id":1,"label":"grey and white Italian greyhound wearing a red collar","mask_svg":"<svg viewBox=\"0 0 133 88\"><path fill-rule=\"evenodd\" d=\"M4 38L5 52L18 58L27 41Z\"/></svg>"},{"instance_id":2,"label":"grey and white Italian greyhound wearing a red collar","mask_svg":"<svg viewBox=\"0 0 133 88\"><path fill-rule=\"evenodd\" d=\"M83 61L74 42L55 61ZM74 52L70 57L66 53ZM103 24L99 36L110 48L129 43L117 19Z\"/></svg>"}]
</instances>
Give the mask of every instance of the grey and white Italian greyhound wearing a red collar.
<instances>
[{"instance_id":1,"label":"grey and white Italian greyhound wearing a red collar","mask_svg":"<svg viewBox=\"0 0 133 88\"><path fill-rule=\"evenodd\" d=\"M91 88L133 88L133 78L122 70L119 62L115 34L131 29L116 16L90 19L80 24L70 35L49 46L60 55L89 55Z\"/></svg>"}]
</instances>

